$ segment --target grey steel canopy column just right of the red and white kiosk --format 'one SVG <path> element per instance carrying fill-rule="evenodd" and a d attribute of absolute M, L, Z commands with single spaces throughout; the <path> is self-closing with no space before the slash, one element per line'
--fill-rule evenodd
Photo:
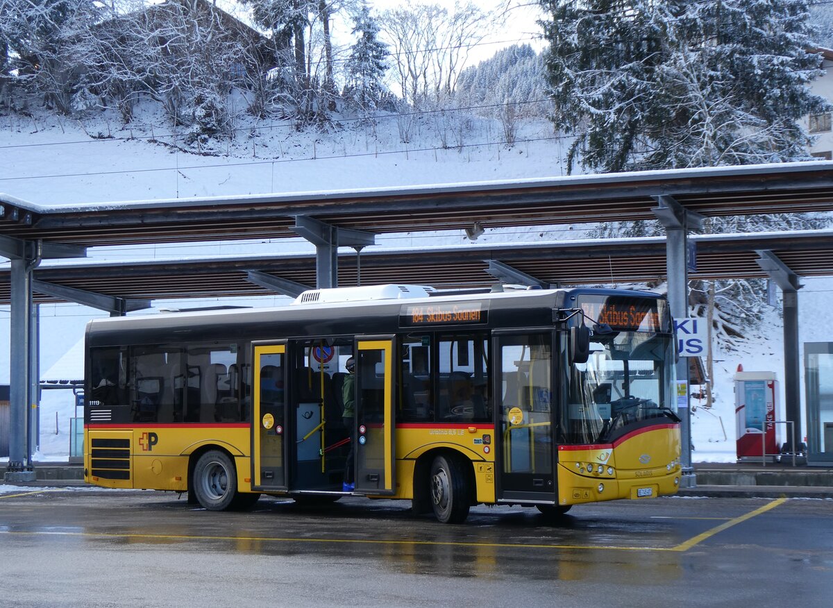
<path fill-rule="evenodd" d="M 798 338 L 798 290 L 803 287 L 798 275 L 781 262 L 773 252 L 756 251 L 760 266 L 772 281 L 781 287 L 784 296 L 782 311 L 784 314 L 784 414 L 791 421 L 796 431 L 796 443 L 801 443 L 801 359 L 799 358 Z M 789 431 L 789 429 L 787 429 Z M 788 435 L 789 439 L 789 435 Z M 797 451 L 791 446 L 791 451 Z"/>

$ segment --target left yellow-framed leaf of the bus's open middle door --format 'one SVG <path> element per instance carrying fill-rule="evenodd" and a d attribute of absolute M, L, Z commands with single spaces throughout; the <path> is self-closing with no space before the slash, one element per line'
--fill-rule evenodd
<path fill-rule="evenodd" d="M 255 489 L 287 489 L 287 345 L 254 347 L 252 480 Z"/>

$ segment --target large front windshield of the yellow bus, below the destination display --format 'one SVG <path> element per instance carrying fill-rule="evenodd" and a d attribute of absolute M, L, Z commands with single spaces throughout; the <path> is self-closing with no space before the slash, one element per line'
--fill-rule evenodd
<path fill-rule="evenodd" d="M 586 363 L 568 366 L 562 441 L 611 443 L 676 416 L 674 341 L 668 334 L 611 331 L 591 338 Z"/>

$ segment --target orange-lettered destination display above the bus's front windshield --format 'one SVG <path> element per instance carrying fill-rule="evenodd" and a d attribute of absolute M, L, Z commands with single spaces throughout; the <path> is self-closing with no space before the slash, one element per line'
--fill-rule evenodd
<path fill-rule="evenodd" d="M 579 297 L 581 311 L 616 331 L 669 331 L 666 302 L 653 299 Z"/>

